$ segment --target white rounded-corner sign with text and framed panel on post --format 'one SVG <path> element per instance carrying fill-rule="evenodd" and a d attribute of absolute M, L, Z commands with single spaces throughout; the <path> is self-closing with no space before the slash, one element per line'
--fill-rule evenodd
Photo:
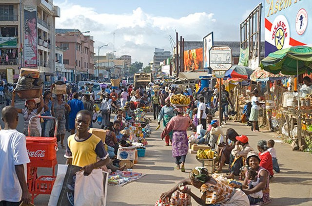
<path fill-rule="evenodd" d="M 213 46 L 209 53 L 212 70 L 227 71 L 232 67 L 232 49 L 229 46 Z"/>

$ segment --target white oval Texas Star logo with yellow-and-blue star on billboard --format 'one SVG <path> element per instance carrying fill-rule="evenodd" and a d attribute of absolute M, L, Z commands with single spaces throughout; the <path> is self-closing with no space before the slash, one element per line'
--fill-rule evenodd
<path fill-rule="evenodd" d="M 288 21 L 283 15 L 279 15 L 273 21 L 272 25 L 272 40 L 276 49 L 281 50 L 289 46 L 289 25 Z"/>

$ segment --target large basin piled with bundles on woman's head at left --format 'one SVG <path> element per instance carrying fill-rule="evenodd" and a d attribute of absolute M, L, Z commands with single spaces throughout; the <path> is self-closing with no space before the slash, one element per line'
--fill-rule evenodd
<path fill-rule="evenodd" d="M 35 99 L 40 97 L 40 89 L 43 88 L 43 80 L 39 76 L 39 70 L 20 70 L 20 76 L 15 91 L 21 99 Z"/>

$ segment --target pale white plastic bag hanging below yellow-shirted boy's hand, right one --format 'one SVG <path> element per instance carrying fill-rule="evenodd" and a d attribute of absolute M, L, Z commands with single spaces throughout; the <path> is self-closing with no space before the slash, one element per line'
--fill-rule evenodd
<path fill-rule="evenodd" d="M 88 176 L 76 174 L 75 206 L 106 206 L 108 173 L 93 169 Z"/>

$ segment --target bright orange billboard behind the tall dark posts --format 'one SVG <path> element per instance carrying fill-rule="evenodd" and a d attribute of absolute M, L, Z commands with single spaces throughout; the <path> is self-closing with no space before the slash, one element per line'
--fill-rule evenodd
<path fill-rule="evenodd" d="M 184 51 L 184 71 L 202 70 L 203 48 Z"/>

